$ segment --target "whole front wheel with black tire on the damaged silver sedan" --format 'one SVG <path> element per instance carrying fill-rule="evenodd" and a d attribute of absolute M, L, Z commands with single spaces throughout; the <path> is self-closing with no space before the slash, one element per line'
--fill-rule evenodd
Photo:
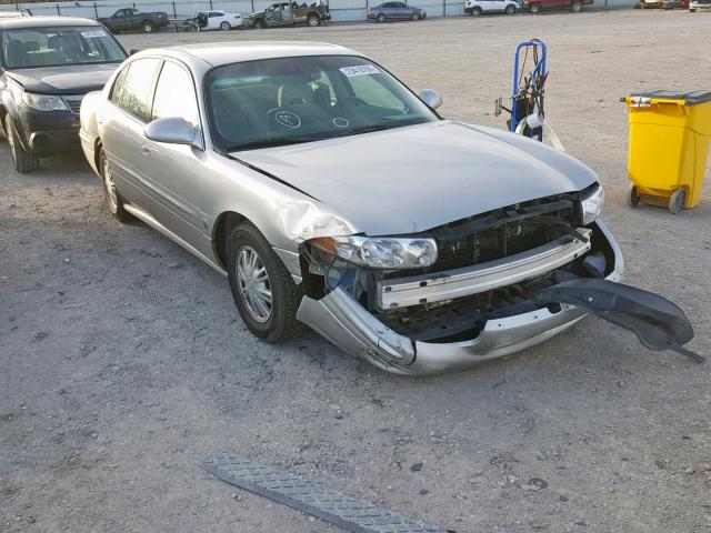
<path fill-rule="evenodd" d="M 228 276 L 247 329 L 267 342 L 300 336 L 297 320 L 303 293 L 264 237 L 250 223 L 238 224 L 228 241 Z"/>

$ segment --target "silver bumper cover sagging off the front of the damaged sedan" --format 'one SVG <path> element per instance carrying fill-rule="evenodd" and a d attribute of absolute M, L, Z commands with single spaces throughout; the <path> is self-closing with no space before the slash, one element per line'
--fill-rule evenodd
<path fill-rule="evenodd" d="M 607 276 L 621 281 L 624 262 L 614 238 L 602 221 L 597 222 L 614 252 L 614 266 Z M 391 330 L 344 290 L 337 288 L 321 300 L 304 296 L 298 319 L 346 352 L 362 356 L 388 372 L 435 374 L 465 369 L 539 344 L 571 328 L 585 311 L 563 304 L 553 313 L 547 308 L 490 320 L 483 331 L 464 342 L 412 342 Z"/>

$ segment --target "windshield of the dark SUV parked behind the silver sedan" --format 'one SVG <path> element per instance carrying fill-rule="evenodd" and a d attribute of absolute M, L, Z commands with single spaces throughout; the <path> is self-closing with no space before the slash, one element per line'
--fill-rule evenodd
<path fill-rule="evenodd" d="M 126 52 L 113 36 L 96 26 L 17 28 L 2 32 L 6 69 L 119 63 L 124 59 Z"/>

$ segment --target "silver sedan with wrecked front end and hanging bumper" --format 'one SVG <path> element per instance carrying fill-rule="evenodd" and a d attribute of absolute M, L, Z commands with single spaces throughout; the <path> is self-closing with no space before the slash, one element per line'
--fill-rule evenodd
<path fill-rule="evenodd" d="M 429 374 L 594 312 L 695 356 L 675 305 L 617 283 L 594 172 L 440 104 L 341 47 L 189 46 L 127 60 L 84 99 L 81 140 L 111 212 L 226 272 L 269 342 L 309 326 Z"/>

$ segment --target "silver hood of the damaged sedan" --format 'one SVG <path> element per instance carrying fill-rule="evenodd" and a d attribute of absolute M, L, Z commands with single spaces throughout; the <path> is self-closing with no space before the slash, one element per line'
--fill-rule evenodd
<path fill-rule="evenodd" d="M 538 141 L 447 120 L 230 155 L 369 235 L 424 231 L 598 179 Z"/>

